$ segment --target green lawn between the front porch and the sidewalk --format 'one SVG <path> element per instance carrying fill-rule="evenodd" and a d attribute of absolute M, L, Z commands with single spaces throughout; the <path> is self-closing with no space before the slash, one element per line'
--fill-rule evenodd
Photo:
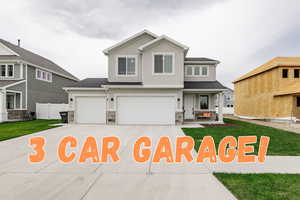
<path fill-rule="evenodd" d="M 270 144 L 268 155 L 300 156 L 300 134 L 288 132 L 271 127 L 256 125 L 238 120 L 224 119 L 225 123 L 236 126 L 207 127 L 207 128 L 183 128 L 186 135 L 195 140 L 195 149 L 198 150 L 203 136 L 213 136 L 216 146 L 225 136 L 269 136 Z M 259 141 L 255 145 L 257 153 Z"/>

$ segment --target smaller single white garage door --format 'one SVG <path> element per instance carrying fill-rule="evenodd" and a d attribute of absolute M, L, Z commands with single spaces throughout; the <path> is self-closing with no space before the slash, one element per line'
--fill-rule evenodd
<path fill-rule="evenodd" d="M 106 123 L 105 97 L 76 97 L 75 117 L 80 124 Z"/>

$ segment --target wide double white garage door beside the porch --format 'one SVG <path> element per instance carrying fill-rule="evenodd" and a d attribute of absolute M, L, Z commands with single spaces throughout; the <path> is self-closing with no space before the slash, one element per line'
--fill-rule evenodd
<path fill-rule="evenodd" d="M 161 96 L 118 97 L 118 124 L 175 124 L 175 98 Z"/>

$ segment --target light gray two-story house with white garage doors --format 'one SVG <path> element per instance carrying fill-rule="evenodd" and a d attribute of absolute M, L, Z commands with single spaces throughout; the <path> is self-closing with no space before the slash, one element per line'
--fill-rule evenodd
<path fill-rule="evenodd" d="M 226 88 L 216 80 L 219 61 L 188 58 L 189 48 L 147 30 L 103 52 L 108 78 L 85 79 L 65 88 L 75 123 L 223 123 L 216 104 Z M 217 96 L 220 101 L 216 102 Z"/>

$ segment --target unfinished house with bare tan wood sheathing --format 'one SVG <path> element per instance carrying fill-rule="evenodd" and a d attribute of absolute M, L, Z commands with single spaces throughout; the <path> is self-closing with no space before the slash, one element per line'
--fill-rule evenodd
<path fill-rule="evenodd" d="M 233 83 L 235 115 L 300 119 L 300 57 L 276 57 Z"/>

